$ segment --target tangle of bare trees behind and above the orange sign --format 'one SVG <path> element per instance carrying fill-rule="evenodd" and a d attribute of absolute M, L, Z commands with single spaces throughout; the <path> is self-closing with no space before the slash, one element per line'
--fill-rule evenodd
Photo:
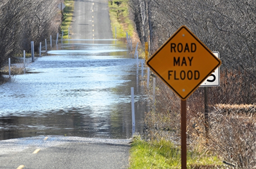
<path fill-rule="evenodd" d="M 151 54 L 180 26 L 186 25 L 211 51 L 220 53 L 221 73 L 239 70 L 245 88 L 256 84 L 254 0 L 130 0 L 130 4 L 140 38 L 150 42 Z M 142 22 L 143 17 L 147 22 Z M 247 95 L 241 97 L 246 99 Z"/>

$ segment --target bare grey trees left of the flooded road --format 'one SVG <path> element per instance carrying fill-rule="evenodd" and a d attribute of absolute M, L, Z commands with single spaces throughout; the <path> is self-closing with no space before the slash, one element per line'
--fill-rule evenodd
<path fill-rule="evenodd" d="M 59 31 L 61 0 L 1 0 L 0 1 L 0 69 L 19 51 L 35 49 L 40 41 Z"/>

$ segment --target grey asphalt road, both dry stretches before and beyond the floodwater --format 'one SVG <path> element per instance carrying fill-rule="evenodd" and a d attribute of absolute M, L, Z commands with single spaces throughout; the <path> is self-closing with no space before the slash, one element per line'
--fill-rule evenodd
<path fill-rule="evenodd" d="M 76 0 L 72 39 L 113 39 L 108 0 Z M 128 168 L 130 139 L 40 136 L 0 141 L 0 169 Z"/>

